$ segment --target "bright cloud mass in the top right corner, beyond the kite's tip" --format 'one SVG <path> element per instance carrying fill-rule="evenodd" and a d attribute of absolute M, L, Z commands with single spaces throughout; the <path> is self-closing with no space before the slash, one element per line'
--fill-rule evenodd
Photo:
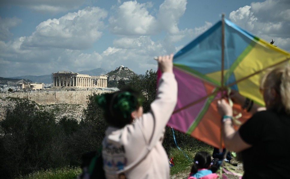
<path fill-rule="evenodd" d="M 229 15 L 229 19 L 254 35 L 290 51 L 290 1 L 253 2 Z"/>

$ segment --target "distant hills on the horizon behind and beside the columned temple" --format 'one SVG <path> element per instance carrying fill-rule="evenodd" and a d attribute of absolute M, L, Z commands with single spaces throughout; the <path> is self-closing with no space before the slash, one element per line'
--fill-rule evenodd
<path fill-rule="evenodd" d="M 90 75 L 90 76 L 108 75 L 108 80 L 119 80 L 120 78 L 127 79 L 129 76 L 136 74 L 129 68 L 123 67 L 123 66 L 117 67 L 115 70 L 112 70 L 111 72 L 103 68 L 97 68 L 94 70 L 85 70 L 85 71 L 80 71 L 77 73 Z M 114 75 L 114 77 L 110 78 L 111 75 Z M 33 81 L 34 83 L 45 83 L 45 84 L 49 84 L 52 81 L 51 75 L 41 75 L 41 76 L 27 75 L 27 76 L 16 76 L 16 77 L 9 77 L 9 78 L 26 79 L 26 80 Z"/>

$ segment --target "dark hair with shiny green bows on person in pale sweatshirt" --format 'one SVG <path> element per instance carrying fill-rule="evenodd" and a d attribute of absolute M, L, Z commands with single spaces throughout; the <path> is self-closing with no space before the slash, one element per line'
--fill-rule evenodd
<path fill-rule="evenodd" d="M 95 102 L 104 111 L 109 126 L 122 128 L 132 122 L 131 112 L 142 106 L 144 97 L 132 87 L 124 87 L 114 93 L 105 93 L 95 98 Z"/>

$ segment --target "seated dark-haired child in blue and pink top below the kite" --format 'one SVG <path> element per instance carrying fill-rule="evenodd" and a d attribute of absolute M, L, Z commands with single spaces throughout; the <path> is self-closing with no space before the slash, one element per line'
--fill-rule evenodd
<path fill-rule="evenodd" d="M 213 179 L 219 178 L 211 170 L 211 157 L 207 152 L 198 152 L 194 157 L 194 163 L 187 179 Z"/>

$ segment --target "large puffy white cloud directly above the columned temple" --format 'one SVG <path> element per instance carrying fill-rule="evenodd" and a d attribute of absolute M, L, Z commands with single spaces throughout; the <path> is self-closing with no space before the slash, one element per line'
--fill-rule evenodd
<path fill-rule="evenodd" d="M 87 49 L 102 36 L 103 19 L 106 16 L 106 10 L 86 7 L 59 19 L 48 19 L 36 27 L 35 32 L 26 38 L 23 46 Z"/>

